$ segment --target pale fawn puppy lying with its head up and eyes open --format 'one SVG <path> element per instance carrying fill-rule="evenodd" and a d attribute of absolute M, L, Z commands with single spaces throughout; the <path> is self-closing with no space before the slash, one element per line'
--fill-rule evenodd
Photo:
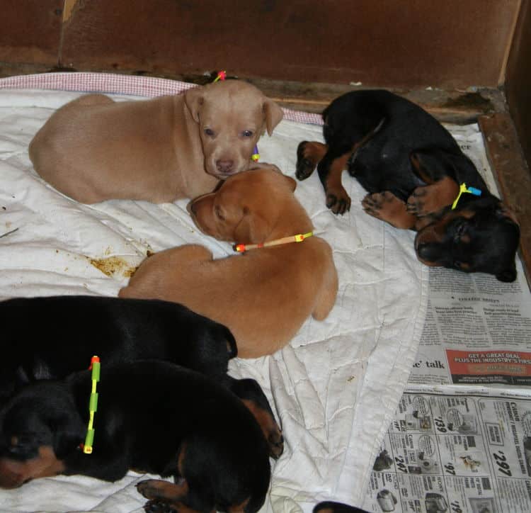
<path fill-rule="evenodd" d="M 163 203 L 247 169 L 258 138 L 281 119 L 274 101 L 239 80 L 146 101 L 89 94 L 59 108 L 29 153 L 43 179 L 82 203 Z"/>

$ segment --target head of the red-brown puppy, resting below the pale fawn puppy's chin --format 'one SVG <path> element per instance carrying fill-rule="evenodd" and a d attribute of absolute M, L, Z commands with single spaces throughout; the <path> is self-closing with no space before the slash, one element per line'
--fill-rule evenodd
<path fill-rule="evenodd" d="M 232 176 L 217 191 L 188 204 L 195 225 L 211 237 L 228 242 L 263 242 L 275 225 L 280 205 L 295 201 L 296 182 L 270 164 Z"/>

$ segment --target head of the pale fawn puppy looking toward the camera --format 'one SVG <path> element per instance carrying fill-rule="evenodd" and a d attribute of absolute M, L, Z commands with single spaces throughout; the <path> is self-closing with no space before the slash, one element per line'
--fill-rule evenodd
<path fill-rule="evenodd" d="M 205 170 L 219 179 L 248 169 L 258 139 L 273 133 L 282 109 L 255 86 L 219 81 L 185 93 L 185 103 L 199 125 Z"/>

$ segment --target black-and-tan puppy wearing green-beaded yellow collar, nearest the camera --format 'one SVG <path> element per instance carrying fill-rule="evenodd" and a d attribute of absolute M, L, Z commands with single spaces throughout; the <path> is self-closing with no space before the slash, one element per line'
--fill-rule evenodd
<path fill-rule="evenodd" d="M 269 448 L 256 419 L 216 380 L 173 363 L 105 365 L 86 438 L 91 371 L 43 380 L 0 411 L 0 487 L 65 474 L 107 481 L 127 470 L 173 476 L 137 485 L 148 512 L 256 512 L 270 481 Z"/>

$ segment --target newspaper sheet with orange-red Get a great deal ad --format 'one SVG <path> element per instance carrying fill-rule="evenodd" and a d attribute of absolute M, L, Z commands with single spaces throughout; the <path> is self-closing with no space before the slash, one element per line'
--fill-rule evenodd
<path fill-rule="evenodd" d="M 430 269 L 409 385 L 531 385 L 531 296 L 518 268 L 514 283 Z"/>

